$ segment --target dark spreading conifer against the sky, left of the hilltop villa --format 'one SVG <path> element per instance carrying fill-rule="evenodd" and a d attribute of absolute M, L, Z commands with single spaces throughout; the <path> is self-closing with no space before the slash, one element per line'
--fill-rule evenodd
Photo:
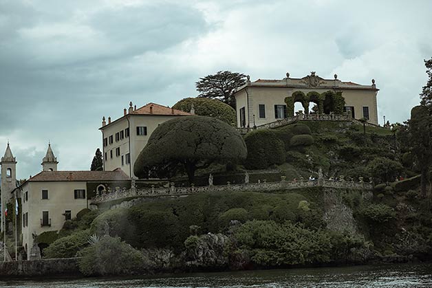
<path fill-rule="evenodd" d="M 217 74 L 199 78 L 195 84 L 199 92 L 198 97 L 219 99 L 235 109 L 234 92 L 237 87 L 246 84 L 246 75 L 219 71 Z"/>

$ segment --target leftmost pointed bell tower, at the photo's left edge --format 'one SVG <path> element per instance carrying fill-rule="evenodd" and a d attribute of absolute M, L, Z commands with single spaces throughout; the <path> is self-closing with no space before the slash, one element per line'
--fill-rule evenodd
<path fill-rule="evenodd" d="M 12 155 L 10 151 L 10 146 L 6 147 L 6 152 L 3 157 L 1 157 L 1 200 L 3 205 L 8 203 L 12 195 L 10 192 L 17 188 L 17 159 Z M 4 207 L 2 208 L 4 211 Z M 3 213 L 2 211 L 2 213 Z"/>

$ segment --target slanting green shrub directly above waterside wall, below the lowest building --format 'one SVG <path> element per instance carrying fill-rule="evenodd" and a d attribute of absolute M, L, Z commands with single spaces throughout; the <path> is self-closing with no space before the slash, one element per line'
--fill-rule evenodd
<path fill-rule="evenodd" d="M 71 258 L 76 252 L 89 245 L 87 240 L 91 235 L 90 230 L 75 232 L 69 236 L 57 239 L 43 250 L 45 258 Z"/>

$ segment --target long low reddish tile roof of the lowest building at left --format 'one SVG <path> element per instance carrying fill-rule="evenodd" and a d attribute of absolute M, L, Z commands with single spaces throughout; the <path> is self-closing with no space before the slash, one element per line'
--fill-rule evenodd
<path fill-rule="evenodd" d="M 114 171 L 42 171 L 28 181 L 125 181 L 130 180 L 120 168 Z"/>

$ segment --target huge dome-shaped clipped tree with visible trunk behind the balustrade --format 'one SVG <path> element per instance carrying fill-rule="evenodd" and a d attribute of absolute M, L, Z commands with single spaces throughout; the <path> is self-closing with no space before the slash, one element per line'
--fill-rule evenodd
<path fill-rule="evenodd" d="M 233 126 L 215 118 L 185 116 L 166 121 L 153 131 L 133 172 L 146 178 L 151 166 L 182 164 L 192 184 L 198 168 L 215 160 L 237 161 L 246 155 L 246 144 Z"/>

